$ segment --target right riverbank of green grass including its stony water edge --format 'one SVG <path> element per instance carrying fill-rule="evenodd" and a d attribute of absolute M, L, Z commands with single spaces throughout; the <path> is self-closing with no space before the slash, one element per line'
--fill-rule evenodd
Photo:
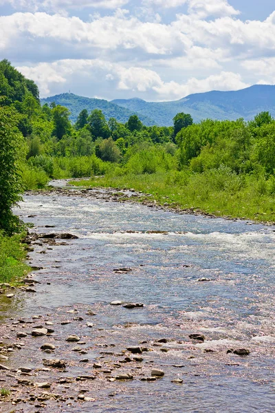
<path fill-rule="evenodd" d="M 256 182 L 250 182 L 243 189 L 237 189 L 236 186 L 234 190 L 234 182 L 231 182 L 231 187 L 230 182 L 227 187 L 223 187 L 225 182 L 223 184 L 220 182 L 221 188 L 218 189 L 217 182 L 214 186 L 212 180 L 206 177 L 202 179 L 201 176 L 199 179 L 194 176 L 193 179 L 186 181 L 186 185 L 181 179 L 178 181 L 177 177 L 173 178 L 170 173 L 163 173 L 101 176 L 91 180 L 72 180 L 70 184 L 91 189 L 97 187 L 109 187 L 117 191 L 133 189 L 144 195 L 131 197 L 131 202 L 152 204 L 177 213 L 197 213 L 212 218 L 223 217 L 275 224 L 274 196 L 261 193 L 256 187 Z M 235 184 L 237 185 L 237 182 Z M 150 193 L 150 196 L 145 195 L 146 193 Z"/>

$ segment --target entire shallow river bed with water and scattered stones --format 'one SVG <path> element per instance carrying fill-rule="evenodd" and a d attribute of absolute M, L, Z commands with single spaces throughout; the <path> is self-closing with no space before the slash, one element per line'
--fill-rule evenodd
<path fill-rule="evenodd" d="M 34 271 L 2 286 L 1 411 L 272 411 L 272 227 L 142 196 L 26 194 Z"/>

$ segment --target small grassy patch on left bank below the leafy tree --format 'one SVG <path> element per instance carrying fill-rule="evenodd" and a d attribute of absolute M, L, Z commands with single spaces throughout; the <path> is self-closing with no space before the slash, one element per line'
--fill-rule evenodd
<path fill-rule="evenodd" d="M 0 284 L 17 285 L 30 270 L 25 263 L 27 251 L 23 235 L 6 237 L 0 233 Z"/>

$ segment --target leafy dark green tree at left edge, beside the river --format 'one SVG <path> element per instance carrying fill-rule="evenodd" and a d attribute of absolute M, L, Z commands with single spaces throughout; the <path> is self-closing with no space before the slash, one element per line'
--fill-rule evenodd
<path fill-rule="evenodd" d="M 17 125 L 15 109 L 0 106 L 0 229 L 12 235 L 19 229 L 19 218 L 12 207 L 21 200 L 23 191 L 19 162 L 24 155 L 23 136 Z"/>

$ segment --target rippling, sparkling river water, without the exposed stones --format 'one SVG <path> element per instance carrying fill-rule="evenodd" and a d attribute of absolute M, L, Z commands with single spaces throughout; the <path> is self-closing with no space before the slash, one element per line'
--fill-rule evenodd
<path fill-rule="evenodd" d="M 89 384 L 94 403 L 43 411 L 274 412 L 274 226 L 178 215 L 77 193 L 26 196 L 19 214 L 33 222 L 36 233 L 68 232 L 79 238 L 51 249 L 35 246 L 32 265 L 43 267 L 36 273 L 37 293 L 20 293 L 12 305 L 3 303 L 2 319 L 47 314 L 54 321 L 68 318 L 67 310 L 74 308 L 83 324 L 58 326 L 55 339 L 72 333 L 85 337 L 92 363 L 110 343 L 118 352 L 147 341 L 153 350 L 142 354 L 140 370 L 133 367 L 133 381 Z M 132 271 L 113 271 L 122 267 Z M 208 281 L 199 282 L 201 277 Z M 110 306 L 115 299 L 142 302 L 144 308 Z M 91 308 L 96 316 L 88 319 L 85 312 Z M 192 341 L 191 333 L 206 339 Z M 164 351 L 154 346 L 162 338 L 168 339 Z M 227 354 L 229 348 L 246 348 L 250 355 Z M 32 351 L 14 354 L 11 366 L 18 366 L 19 357 L 41 363 L 41 354 Z M 58 357 L 68 358 L 65 351 L 60 346 Z M 70 357 L 67 375 L 93 370 L 92 364 L 80 366 L 79 356 Z M 164 378 L 140 381 L 152 367 L 164 370 Z M 171 383 L 177 378 L 184 383 Z"/>

